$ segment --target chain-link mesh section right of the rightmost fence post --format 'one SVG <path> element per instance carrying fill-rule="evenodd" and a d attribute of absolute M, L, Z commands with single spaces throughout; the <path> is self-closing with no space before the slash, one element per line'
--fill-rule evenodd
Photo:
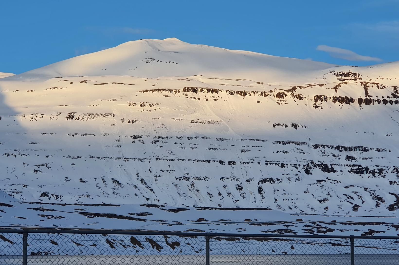
<path fill-rule="evenodd" d="M 355 239 L 355 264 L 399 264 L 399 239 Z"/>

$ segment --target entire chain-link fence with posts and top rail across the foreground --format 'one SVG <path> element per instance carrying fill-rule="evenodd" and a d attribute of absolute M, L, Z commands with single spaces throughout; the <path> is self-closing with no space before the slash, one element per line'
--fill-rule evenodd
<path fill-rule="evenodd" d="M 1 230 L 0 265 L 393 265 L 399 237 Z"/>

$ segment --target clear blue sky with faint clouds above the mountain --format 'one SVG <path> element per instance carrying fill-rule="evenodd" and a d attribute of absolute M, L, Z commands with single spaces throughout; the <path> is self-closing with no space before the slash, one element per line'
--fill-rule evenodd
<path fill-rule="evenodd" d="M 0 72 L 22 73 L 136 39 L 340 65 L 399 60 L 399 0 L 3 1 Z"/>

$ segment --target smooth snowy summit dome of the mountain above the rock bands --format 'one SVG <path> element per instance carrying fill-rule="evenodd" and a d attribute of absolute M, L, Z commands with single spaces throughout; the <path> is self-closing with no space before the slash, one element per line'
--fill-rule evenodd
<path fill-rule="evenodd" d="M 157 64 L 145 65 L 152 60 Z M 300 67 L 295 65 L 300 65 Z M 247 69 L 241 73 L 242 79 L 281 82 L 285 80 L 282 77 L 286 71 L 300 77 L 305 74 L 314 75 L 314 71 L 332 66 L 334 65 L 249 51 L 192 45 L 169 38 L 129 41 L 103 51 L 80 55 L 34 69 L 19 76 L 40 75 L 51 78 L 77 75 L 132 75 L 158 78 L 205 75 L 231 78 L 237 75 L 237 72 L 242 72 L 242 69 Z M 276 75 L 280 77 L 280 80 L 275 78 Z M 274 80 L 268 80 L 271 78 Z"/>

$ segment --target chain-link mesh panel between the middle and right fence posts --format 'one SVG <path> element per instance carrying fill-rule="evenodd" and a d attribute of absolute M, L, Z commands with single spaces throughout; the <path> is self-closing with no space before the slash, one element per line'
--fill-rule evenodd
<path fill-rule="evenodd" d="M 349 239 L 211 238 L 213 265 L 350 265 Z"/>

